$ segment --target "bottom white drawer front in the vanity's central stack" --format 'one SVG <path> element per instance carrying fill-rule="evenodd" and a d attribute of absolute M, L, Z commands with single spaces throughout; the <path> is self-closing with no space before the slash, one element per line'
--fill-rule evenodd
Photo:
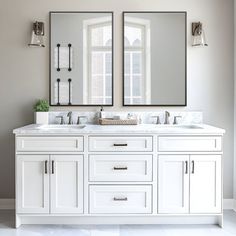
<path fill-rule="evenodd" d="M 91 214 L 151 214 L 151 185 L 90 185 Z"/>

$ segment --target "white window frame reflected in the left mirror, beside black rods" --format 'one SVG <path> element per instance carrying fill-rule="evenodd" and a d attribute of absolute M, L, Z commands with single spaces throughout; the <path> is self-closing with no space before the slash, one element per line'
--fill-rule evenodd
<path fill-rule="evenodd" d="M 92 79 L 92 61 L 91 61 L 91 53 L 92 51 L 110 51 L 112 54 L 112 45 L 111 46 L 91 46 L 91 29 L 96 28 L 98 26 L 111 25 L 112 20 L 111 17 L 98 17 L 93 19 L 84 20 L 83 22 L 83 104 L 93 104 L 92 99 L 92 91 L 91 91 L 91 79 Z M 104 55 L 105 56 L 105 55 Z M 111 56 L 112 57 L 112 56 Z M 103 65 L 105 67 L 105 65 Z M 105 71 L 105 68 L 103 68 Z M 104 74 L 104 83 L 103 83 L 103 92 L 105 93 L 105 77 L 107 74 Z M 112 72 L 111 72 L 112 76 Z M 103 102 L 102 104 L 106 104 L 106 99 L 111 98 L 111 96 L 102 96 Z"/>

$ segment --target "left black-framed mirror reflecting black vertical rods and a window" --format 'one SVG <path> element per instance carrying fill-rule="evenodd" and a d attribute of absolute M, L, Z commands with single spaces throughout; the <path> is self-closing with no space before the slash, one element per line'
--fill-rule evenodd
<path fill-rule="evenodd" d="M 50 105 L 113 105 L 112 12 L 50 12 Z"/>

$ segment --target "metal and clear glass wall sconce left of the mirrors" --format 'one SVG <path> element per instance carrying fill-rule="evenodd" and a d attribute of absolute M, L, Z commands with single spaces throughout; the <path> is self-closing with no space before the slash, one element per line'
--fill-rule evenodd
<path fill-rule="evenodd" d="M 33 23 L 31 42 L 28 44 L 28 46 L 45 47 L 44 42 L 43 42 L 43 36 L 44 36 L 44 23 L 35 21 Z"/>

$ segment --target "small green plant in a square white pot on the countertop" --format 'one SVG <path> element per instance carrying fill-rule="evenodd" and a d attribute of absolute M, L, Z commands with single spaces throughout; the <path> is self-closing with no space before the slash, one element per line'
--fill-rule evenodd
<path fill-rule="evenodd" d="M 35 123 L 48 124 L 49 104 L 47 100 L 38 100 L 34 105 Z"/>

